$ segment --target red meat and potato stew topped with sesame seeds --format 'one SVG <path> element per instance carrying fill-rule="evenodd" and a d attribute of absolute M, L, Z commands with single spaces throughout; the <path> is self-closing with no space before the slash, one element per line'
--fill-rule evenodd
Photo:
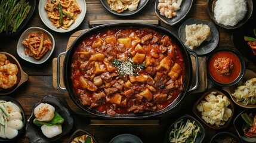
<path fill-rule="evenodd" d="M 162 110 L 183 90 L 179 47 L 148 28 L 90 35 L 76 48 L 71 66 L 73 89 L 82 104 L 111 116 Z"/>

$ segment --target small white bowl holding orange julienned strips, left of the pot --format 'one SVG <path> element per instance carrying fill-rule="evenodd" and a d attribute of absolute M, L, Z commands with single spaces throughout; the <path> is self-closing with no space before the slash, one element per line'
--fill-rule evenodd
<path fill-rule="evenodd" d="M 24 50 L 26 49 L 26 46 L 24 46 L 22 44 L 22 42 L 27 38 L 27 36 L 31 33 L 31 32 L 36 32 L 36 31 L 40 31 L 45 33 L 48 38 L 50 39 L 52 45 L 51 45 L 51 51 L 47 51 L 45 53 L 45 55 L 43 55 L 42 58 L 40 58 L 39 60 L 36 60 L 34 57 L 29 56 L 29 55 L 25 55 Z M 51 35 L 51 33 L 49 33 L 47 30 L 42 29 L 40 27 L 30 27 L 29 29 L 25 30 L 22 35 L 20 36 L 20 39 L 18 39 L 18 43 L 17 43 L 17 53 L 18 55 L 23 58 L 23 60 L 29 61 L 30 63 L 33 64 L 42 64 L 45 61 L 48 60 L 48 58 L 51 57 L 51 54 L 53 54 L 55 48 L 55 41 L 53 38 L 53 35 Z"/>

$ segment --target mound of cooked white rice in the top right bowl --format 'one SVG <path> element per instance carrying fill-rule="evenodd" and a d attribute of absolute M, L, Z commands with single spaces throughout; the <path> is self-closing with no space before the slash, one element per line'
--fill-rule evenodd
<path fill-rule="evenodd" d="M 245 17 L 246 13 L 245 0 L 218 0 L 215 2 L 215 20 L 224 26 L 235 26 Z"/>

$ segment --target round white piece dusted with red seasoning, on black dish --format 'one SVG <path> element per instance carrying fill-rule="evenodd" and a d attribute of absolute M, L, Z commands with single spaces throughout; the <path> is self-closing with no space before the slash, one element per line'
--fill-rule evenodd
<path fill-rule="evenodd" d="M 41 103 L 38 106 L 36 106 L 34 114 L 37 120 L 48 122 L 51 119 L 53 119 L 54 111 L 55 108 L 52 105 L 47 103 Z"/>

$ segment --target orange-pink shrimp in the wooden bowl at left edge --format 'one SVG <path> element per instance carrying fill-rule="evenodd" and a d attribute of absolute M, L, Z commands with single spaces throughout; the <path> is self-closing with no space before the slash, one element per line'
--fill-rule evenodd
<path fill-rule="evenodd" d="M 0 54 L 0 91 L 16 85 L 17 73 L 17 65 L 10 63 L 5 54 Z"/>

